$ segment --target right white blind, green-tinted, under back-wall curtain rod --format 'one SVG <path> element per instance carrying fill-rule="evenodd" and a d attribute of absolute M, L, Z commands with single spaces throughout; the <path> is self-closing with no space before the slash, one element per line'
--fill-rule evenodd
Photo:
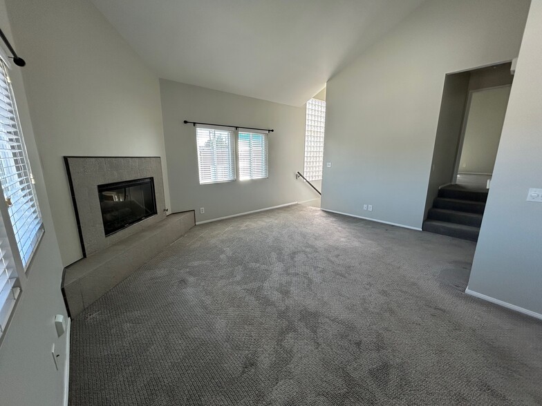
<path fill-rule="evenodd" d="M 239 132 L 239 180 L 268 177 L 267 134 Z"/>

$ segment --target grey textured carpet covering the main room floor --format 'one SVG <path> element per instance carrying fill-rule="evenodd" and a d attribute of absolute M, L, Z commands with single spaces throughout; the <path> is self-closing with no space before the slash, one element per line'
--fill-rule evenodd
<path fill-rule="evenodd" d="M 73 320 L 71 405 L 540 405 L 475 244 L 307 206 L 187 235 Z"/>

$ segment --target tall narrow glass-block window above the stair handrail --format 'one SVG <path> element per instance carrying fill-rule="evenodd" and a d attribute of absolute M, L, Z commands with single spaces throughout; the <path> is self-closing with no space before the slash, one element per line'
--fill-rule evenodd
<path fill-rule="evenodd" d="M 305 125 L 305 177 L 308 180 L 322 178 L 324 163 L 324 128 L 326 126 L 326 102 L 318 99 L 307 101 Z"/>

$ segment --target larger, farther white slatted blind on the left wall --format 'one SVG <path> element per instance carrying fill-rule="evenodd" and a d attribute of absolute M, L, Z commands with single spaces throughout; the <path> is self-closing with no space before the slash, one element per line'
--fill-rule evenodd
<path fill-rule="evenodd" d="M 1 61 L 0 66 L 0 184 L 26 269 L 43 227 L 8 69 Z"/>

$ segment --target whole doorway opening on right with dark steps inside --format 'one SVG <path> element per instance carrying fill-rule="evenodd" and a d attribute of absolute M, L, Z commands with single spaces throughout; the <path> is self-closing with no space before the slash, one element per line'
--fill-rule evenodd
<path fill-rule="evenodd" d="M 424 231 L 478 240 L 508 97 L 510 62 L 446 76 Z"/>

